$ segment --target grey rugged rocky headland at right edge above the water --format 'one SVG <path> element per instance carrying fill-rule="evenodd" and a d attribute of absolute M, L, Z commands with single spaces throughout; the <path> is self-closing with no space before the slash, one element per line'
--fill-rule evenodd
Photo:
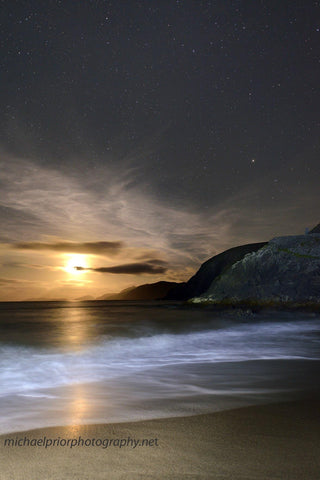
<path fill-rule="evenodd" d="M 320 304 L 320 234 L 270 240 L 234 263 L 192 301 Z"/>

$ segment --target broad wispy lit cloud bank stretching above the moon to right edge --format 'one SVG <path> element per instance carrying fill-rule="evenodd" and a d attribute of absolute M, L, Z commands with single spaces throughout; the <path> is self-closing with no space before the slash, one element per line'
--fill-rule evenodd
<path fill-rule="evenodd" d="M 79 164 L 85 160 L 79 158 Z M 0 239 L 15 244 L 21 254 L 22 246 L 30 253 L 32 245 L 35 253 L 39 251 L 35 247 L 44 251 L 49 246 L 53 251 L 68 248 L 101 255 L 105 249 L 104 254 L 118 253 L 123 264 L 148 263 L 148 257 L 155 255 L 166 259 L 171 271 L 185 271 L 196 270 L 201 262 L 232 246 L 295 233 L 299 223 L 302 231 L 318 223 L 312 192 L 303 196 L 296 189 L 270 206 L 259 195 L 259 187 L 252 185 L 214 202 L 208 198 L 207 205 L 198 208 L 189 198 L 172 204 L 156 198 L 152 186 L 148 189 L 139 175 L 134 168 L 117 170 L 114 164 L 85 174 L 81 168 L 58 171 L 3 153 Z M 97 239 L 110 242 L 103 246 Z"/>

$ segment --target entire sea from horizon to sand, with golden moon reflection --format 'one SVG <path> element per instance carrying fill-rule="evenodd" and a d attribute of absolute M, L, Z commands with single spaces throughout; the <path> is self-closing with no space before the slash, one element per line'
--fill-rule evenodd
<path fill-rule="evenodd" d="M 0 303 L 0 433 L 312 396 L 319 373 L 314 313 Z"/>

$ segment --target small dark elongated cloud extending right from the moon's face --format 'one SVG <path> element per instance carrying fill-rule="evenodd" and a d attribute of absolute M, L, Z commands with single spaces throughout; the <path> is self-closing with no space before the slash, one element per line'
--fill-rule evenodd
<path fill-rule="evenodd" d="M 165 273 L 167 271 L 166 262 L 162 260 L 150 260 L 144 263 L 127 263 L 124 265 L 114 265 L 113 267 L 97 267 L 97 268 L 85 268 L 74 267 L 76 270 L 90 270 L 92 272 L 99 273 L 116 273 L 126 275 L 142 275 L 142 274 L 157 274 Z"/>

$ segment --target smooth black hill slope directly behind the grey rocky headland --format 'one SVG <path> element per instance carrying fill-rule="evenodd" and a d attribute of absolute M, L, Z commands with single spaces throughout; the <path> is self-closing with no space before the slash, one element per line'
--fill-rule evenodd
<path fill-rule="evenodd" d="M 251 252 L 256 252 L 267 242 L 249 243 L 247 245 L 240 245 L 233 247 L 207 260 L 201 265 L 197 273 L 191 277 L 186 283 L 177 284 L 172 288 L 166 300 L 188 300 L 206 292 L 211 283 L 222 275 L 235 262 L 242 260 L 242 258 Z"/>

